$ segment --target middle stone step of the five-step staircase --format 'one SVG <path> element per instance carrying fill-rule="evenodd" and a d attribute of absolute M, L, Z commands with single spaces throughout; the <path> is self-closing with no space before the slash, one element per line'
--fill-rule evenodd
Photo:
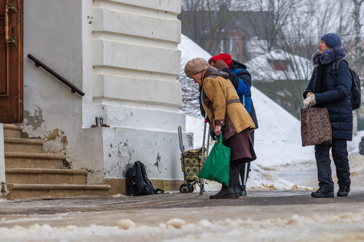
<path fill-rule="evenodd" d="M 6 168 L 61 169 L 64 154 L 4 152 Z"/>

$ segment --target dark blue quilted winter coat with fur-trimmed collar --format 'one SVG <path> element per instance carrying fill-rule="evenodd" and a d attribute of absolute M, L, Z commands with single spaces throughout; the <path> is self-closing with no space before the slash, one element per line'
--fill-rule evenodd
<path fill-rule="evenodd" d="M 318 54 L 318 51 L 314 52 L 312 55 L 313 64 L 327 65 L 326 81 L 328 91 L 315 93 L 317 77 L 315 73 L 312 73 L 311 80 L 303 93 L 303 97 L 306 98 L 308 92 L 315 93 L 316 106 L 319 108 L 326 107 L 329 112 L 332 138 L 351 141 L 353 137 L 353 110 L 349 97 L 352 85 L 349 67 L 345 61 L 340 62 L 337 84 L 335 84 L 335 79 L 331 73 L 333 62 L 343 59 L 345 56 L 347 56 L 347 53 L 342 46 L 326 50 L 321 55 Z"/>

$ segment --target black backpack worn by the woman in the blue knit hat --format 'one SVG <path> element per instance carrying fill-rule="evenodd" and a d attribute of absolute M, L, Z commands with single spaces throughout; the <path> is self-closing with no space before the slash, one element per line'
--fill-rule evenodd
<path fill-rule="evenodd" d="M 337 70 L 339 70 L 340 61 L 345 61 L 346 64 L 348 64 L 348 62 L 344 59 L 336 60 L 332 64 L 332 75 L 334 76 L 335 85 L 337 85 Z M 351 74 L 351 80 L 352 80 L 349 95 L 351 99 L 351 106 L 353 110 L 355 110 L 360 108 L 361 105 L 361 90 L 360 90 L 361 85 L 358 74 L 355 71 L 353 71 L 350 67 L 349 67 L 349 72 Z"/>

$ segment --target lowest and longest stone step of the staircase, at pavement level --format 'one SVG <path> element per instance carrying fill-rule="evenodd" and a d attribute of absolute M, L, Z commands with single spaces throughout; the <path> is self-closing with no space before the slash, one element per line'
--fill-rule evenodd
<path fill-rule="evenodd" d="M 35 197 L 76 197 L 107 196 L 110 185 L 74 185 L 74 184 L 19 184 L 7 183 L 8 199 Z"/>

